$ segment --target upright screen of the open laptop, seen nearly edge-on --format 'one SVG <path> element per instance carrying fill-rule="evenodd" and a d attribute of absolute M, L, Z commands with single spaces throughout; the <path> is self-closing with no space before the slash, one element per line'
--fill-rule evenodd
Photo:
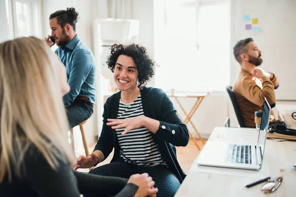
<path fill-rule="evenodd" d="M 259 152 L 261 155 L 261 159 L 264 153 L 264 145 L 265 145 L 268 125 L 269 125 L 269 116 L 270 116 L 270 105 L 268 104 L 266 98 L 264 98 L 262 118 L 260 123 L 260 131 L 258 136 L 258 145 L 259 145 Z"/>

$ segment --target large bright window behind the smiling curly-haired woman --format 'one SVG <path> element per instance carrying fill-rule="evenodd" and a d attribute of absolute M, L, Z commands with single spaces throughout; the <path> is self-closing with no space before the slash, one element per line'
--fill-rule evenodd
<path fill-rule="evenodd" d="M 164 10 L 155 86 L 178 92 L 224 90 L 230 81 L 229 2 L 165 0 Z"/>

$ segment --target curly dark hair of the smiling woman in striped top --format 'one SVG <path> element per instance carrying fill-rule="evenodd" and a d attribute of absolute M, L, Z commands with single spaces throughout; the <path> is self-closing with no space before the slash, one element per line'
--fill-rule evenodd
<path fill-rule="evenodd" d="M 124 46 L 122 44 L 113 44 L 111 46 L 111 55 L 108 56 L 107 65 L 114 72 L 115 64 L 120 55 L 126 55 L 133 58 L 137 70 L 138 70 L 138 87 L 141 88 L 145 86 L 150 78 L 154 75 L 154 65 L 157 66 L 155 62 L 149 59 L 147 50 L 143 46 L 138 44 L 130 44 Z"/>

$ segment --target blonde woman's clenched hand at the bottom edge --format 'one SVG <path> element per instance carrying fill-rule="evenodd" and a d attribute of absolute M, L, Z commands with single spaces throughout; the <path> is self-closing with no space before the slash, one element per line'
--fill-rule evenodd
<path fill-rule="evenodd" d="M 158 189 L 154 188 L 155 182 L 147 173 L 133 174 L 127 183 L 133 183 L 139 187 L 134 197 L 156 197 L 158 192 Z"/>

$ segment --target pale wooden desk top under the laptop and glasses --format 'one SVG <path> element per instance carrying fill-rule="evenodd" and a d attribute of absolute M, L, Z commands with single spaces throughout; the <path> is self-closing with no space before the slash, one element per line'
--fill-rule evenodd
<path fill-rule="evenodd" d="M 243 144 L 248 139 L 254 138 L 257 141 L 257 137 L 258 131 L 255 129 L 216 127 L 209 140 Z M 264 162 L 268 162 L 268 168 L 260 170 L 269 172 L 268 175 L 272 178 L 282 174 L 284 178 L 274 193 L 266 195 L 261 192 L 263 183 L 245 188 L 246 185 L 259 180 L 258 178 L 197 172 L 198 165 L 195 160 L 175 197 L 296 197 L 296 168 L 293 167 L 296 163 L 296 142 L 267 139 L 265 146 L 262 168 Z M 226 169 L 212 168 L 221 172 Z M 232 170 L 245 173 L 243 169 Z M 238 172 L 236 174 L 239 174 Z"/>

